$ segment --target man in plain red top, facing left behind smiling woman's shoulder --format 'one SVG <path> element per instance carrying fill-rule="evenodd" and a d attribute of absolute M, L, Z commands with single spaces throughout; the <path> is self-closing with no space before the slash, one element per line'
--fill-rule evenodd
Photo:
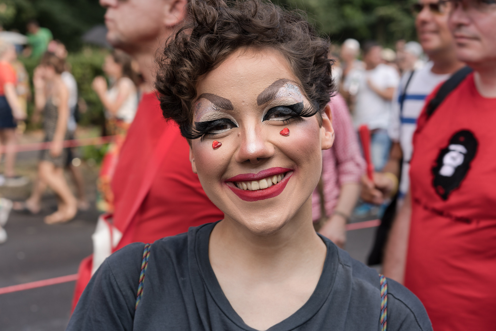
<path fill-rule="evenodd" d="M 132 242 L 152 243 L 186 232 L 190 226 L 224 218 L 191 171 L 189 145 L 176 124 L 163 119 L 154 93 L 157 50 L 184 18 L 186 2 L 100 0 L 107 8 L 107 40 L 136 60 L 145 83 L 112 179 L 114 214 L 105 217 L 112 228 L 107 241 L 112 243 L 100 242 L 95 247 L 109 246 L 115 251 Z M 122 236 L 117 243 L 116 236 Z M 96 237 L 97 233 L 94 240 Z M 92 258 L 81 263 L 73 308 L 95 266 Z"/>

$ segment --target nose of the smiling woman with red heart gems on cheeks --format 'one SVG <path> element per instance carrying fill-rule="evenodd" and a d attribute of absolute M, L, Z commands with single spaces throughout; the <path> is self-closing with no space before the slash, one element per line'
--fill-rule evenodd
<path fill-rule="evenodd" d="M 239 133 L 241 145 L 236 153 L 236 161 L 257 164 L 274 155 L 274 146 L 266 138 L 265 132 L 252 128 Z"/>

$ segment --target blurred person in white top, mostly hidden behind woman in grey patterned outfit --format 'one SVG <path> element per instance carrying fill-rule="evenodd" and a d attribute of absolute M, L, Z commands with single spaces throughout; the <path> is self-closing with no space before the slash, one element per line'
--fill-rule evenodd
<path fill-rule="evenodd" d="M 67 63 L 67 61 L 65 61 L 68 55 L 65 45 L 59 40 L 52 40 L 48 45 L 48 51 L 52 52 L 59 59 L 62 59 L 64 61 L 64 71 L 61 74 L 61 78 L 65 86 L 67 87 L 67 90 L 69 91 L 69 117 L 67 118 L 67 138 L 69 140 L 74 140 L 76 139 L 76 112 L 78 111 L 77 82 L 70 72 L 71 68 L 69 64 Z M 81 160 L 77 157 L 75 148 L 66 148 L 66 153 L 67 161 L 65 163 L 65 168 L 69 170 L 72 180 L 76 186 L 77 208 L 79 210 L 87 210 L 89 208 L 89 203 L 86 199 L 83 174 L 81 173 L 81 169 L 79 168 Z"/>

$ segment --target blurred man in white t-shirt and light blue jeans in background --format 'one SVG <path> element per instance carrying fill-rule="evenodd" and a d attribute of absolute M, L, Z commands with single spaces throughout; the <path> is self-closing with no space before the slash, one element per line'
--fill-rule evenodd
<path fill-rule="evenodd" d="M 371 130 L 372 163 L 380 171 L 385 165 L 391 141 L 387 134 L 391 117 L 391 101 L 398 86 L 399 75 L 395 68 L 384 65 L 382 47 L 374 41 L 364 45 L 365 69 L 350 71 L 345 79 L 344 89 L 350 91 L 352 78 L 358 78 L 357 103 L 353 120 L 355 128 L 366 124 Z"/>

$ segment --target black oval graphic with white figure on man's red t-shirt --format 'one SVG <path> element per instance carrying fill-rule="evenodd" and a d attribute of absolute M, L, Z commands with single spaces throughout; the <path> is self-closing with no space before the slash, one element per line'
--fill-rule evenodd
<path fill-rule="evenodd" d="M 478 144 L 472 132 L 461 130 L 453 134 L 446 148 L 440 150 L 432 171 L 434 190 L 441 199 L 447 200 L 465 179 Z"/>

